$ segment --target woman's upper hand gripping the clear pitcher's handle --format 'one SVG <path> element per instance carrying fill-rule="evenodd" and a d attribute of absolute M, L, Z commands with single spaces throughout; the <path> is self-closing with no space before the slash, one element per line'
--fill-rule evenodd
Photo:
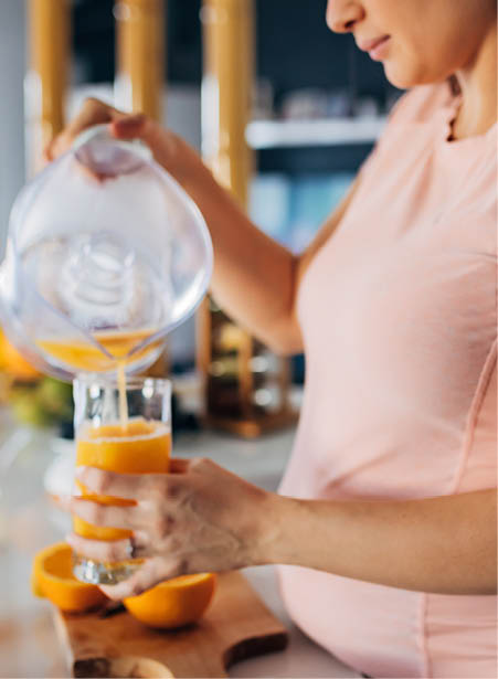
<path fill-rule="evenodd" d="M 180 183 L 189 163 L 200 165 L 197 152 L 180 137 L 144 114 L 126 114 L 99 99 L 87 98 L 80 113 L 45 148 L 47 162 L 67 151 L 76 137 L 94 125 L 108 124 L 116 139 L 141 139 L 152 151 L 156 161 Z"/>

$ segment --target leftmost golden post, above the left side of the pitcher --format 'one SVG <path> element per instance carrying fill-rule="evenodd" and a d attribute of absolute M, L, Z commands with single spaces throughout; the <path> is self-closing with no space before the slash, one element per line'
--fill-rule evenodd
<path fill-rule="evenodd" d="M 28 112 L 34 128 L 32 167 L 40 165 L 43 148 L 64 127 L 65 93 L 70 63 L 68 0 L 30 0 Z"/>

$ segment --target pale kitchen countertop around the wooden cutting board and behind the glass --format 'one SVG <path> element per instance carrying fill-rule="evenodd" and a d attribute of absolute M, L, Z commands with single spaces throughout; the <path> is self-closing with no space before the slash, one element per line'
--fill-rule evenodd
<path fill-rule="evenodd" d="M 287 461 L 293 431 L 246 442 L 203 432 L 174 439 L 178 457 L 205 455 L 258 486 L 275 490 Z M 31 595 L 33 554 L 63 539 L 67 518 L 47 499 L 43 477 L 54 459 L 71 457 L 71 444 L 50 434 L 13 427 L 0 411 L 0 677 L 67 677 L 51 605 Z M 231 677 L 359 677 L 306 637 L 287 616 L 273 566 L 244 574 L 289 630 L 285 651 L 234 665 Z"/>

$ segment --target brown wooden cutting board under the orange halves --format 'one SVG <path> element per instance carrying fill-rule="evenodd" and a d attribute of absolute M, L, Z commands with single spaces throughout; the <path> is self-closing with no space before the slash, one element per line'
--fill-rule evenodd
<path fill-rule="evenodd" d="M 233 664 L 282 650 L 287 630 L 239 572 L 219 575 L 210 607 L 195 625 L 150 629 L 127 611 L 55 613 L 74 677 L 226 677 Z"/>

